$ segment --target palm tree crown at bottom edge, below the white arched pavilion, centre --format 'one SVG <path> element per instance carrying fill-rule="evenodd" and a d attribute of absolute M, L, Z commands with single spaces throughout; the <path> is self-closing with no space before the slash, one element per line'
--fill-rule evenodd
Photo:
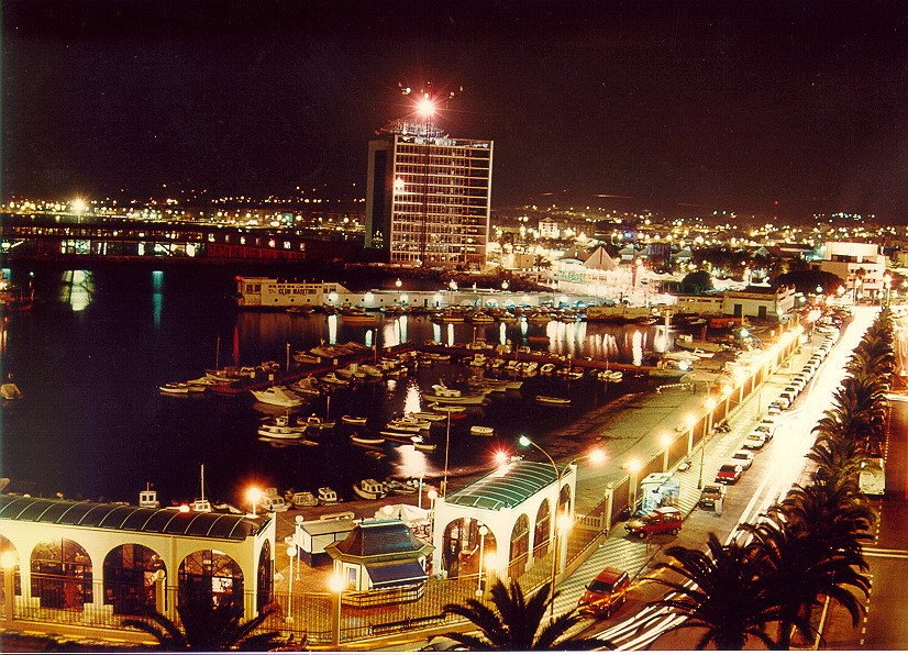
<path fill-rule="evenodd" d="M 444 606 L 446 614 L 470 621 L 481 633 L 480 636 L 458 632 L 450 632 L 445 636 L 470 651 L 591 651 L 612 647 L 605 640 L 566 637 L 583 621 L 576 611 L 558 614 L 545 623 L 549 607 L 557 598 L 557 592 L 550 596 L 549 585 L 525 598 L 520 582 L 512 581 L 506 587 L 501 580 L 496 580 L 490 593 L 490 604 L 467 598 L 463 604 Z"/>

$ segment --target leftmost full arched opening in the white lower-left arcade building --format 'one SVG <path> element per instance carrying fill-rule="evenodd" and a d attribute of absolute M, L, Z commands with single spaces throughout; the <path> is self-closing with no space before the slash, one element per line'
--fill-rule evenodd
<path fill-rule="evenodd" d="M 76 542 L 64 539 L 32 551 L 32 597 L 43 608 L 79 610 L 92 602 L 91 558 Z"/>

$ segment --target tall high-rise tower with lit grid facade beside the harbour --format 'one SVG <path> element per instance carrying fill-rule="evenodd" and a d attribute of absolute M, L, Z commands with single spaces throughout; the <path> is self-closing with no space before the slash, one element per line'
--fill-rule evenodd
<path fill-rule="evenodd" d="M 394 264 L 486 262 L 492 142 L 453 138 L 430 120 L 395 121 L 369 141 L 366 247 Z"/>

